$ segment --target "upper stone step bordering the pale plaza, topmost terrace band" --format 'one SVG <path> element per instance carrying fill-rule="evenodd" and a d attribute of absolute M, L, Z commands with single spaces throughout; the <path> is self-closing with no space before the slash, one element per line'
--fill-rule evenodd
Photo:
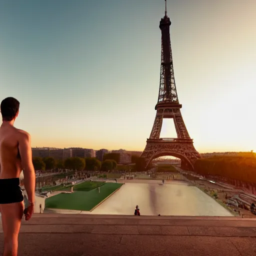
<path fill-rule="evenodd" d="M 46 215 L 46 214 L 45 214 Z M 147 216 L 115 217 L 92 214 L 60 214 L 60 216 L 33 216 L 29 221 L 22 220 L 24 225 L 169 225 L 169 226 L 229 226 L 229 227 L 256 227 L 254 218 L 148 218 Z"/>

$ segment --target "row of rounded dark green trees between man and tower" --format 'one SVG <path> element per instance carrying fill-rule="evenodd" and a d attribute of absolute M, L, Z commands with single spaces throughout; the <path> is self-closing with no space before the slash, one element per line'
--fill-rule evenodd
<path fill-rule="evenodd" d="M 55 168 L 70 170 L 113 170 L 116 168 L 116 161 L 106 159 L 99 161 L 95 157 L 69 157 L 64 161 L 56 160 L 53 157 L 33 157 L 33 166 L 35 170 L 51 170 Z"/>

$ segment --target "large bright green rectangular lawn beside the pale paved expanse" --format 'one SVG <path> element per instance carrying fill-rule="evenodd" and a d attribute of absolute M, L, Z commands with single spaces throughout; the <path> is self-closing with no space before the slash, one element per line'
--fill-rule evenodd
<path fill-rule="evenodd" d="M 91 210 L 121 185 L 122 184 L 119 183 L 105 183 L 100 186 L 100 192 L 98 192 L 98 189 L 96 188 L 89 191 L 76 190 L 70 194 L 60 193 L 46 198 L 45 207 L 70 210 Z"/>

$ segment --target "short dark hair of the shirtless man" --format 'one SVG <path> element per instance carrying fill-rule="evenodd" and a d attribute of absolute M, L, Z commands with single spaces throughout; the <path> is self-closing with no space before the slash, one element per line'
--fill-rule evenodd
<path fill-rule="evenodd" d="M 1 102 L 1 114 L 3 121 L 11 121 L 19 109 L 19 101 L 13 97 L 4 98 Z"/>

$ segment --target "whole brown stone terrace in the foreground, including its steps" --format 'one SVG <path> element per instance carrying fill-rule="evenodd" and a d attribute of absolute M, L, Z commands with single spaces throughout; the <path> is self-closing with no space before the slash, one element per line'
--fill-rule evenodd
<path fill-rule="evenodd" d="M 2 250 L 1 228 L 0 241 Z M 255 256 L 256 220 L 34 214 L 22 223 L 19 255 Z"/>

